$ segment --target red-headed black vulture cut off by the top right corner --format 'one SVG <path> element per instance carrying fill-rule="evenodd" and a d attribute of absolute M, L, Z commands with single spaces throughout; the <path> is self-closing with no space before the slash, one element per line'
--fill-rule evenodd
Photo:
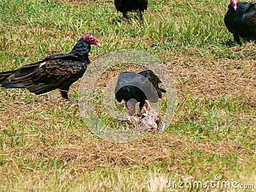
<path fill-rule="evenodd" d="M 230 0 L 224 17 L 225 25 L 234 36 L 234 41 L 241 44 L 240 36 L 246 40 L 256 38 L 256 4 L 246 1 Z"/>

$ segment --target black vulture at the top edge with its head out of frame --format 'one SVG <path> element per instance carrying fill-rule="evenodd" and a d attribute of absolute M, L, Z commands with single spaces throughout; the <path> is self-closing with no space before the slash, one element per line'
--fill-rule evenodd
<path fill-rule="evenodd" d="M 117 12 L 123 13 L 125 19 L 128 19 L 127 12 L 139 12 L 141 20 L 142 13 L 148 8 L 148 0 L 115 0 Z"/>

